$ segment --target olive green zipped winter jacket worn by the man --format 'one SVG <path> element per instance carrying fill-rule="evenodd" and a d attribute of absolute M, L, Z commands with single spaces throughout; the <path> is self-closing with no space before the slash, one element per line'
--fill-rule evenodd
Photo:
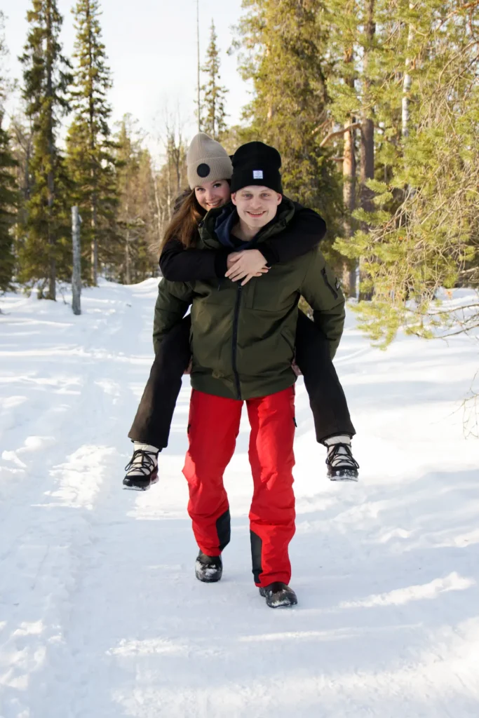
<path fill-rule="evenodd" d="M 292 220 L 294 205 L 284 209 L 254 239 L 280 232 Z M 283 207 L 282 205 L 282 207 Z M 215 223 L 222 210 L 210 210 L 199 228 L 197 247 L 218 249 Z M 241 286 L 229 279 L 179 282 L 162 279 L 154 311 L 153 342 L 159 342 L 191 305 L 192 387 L 198 391 L 248 399 L 292 386 L 299 297 L 310 304 L 315 323 L 338 348 L 345 318 L 339 283 L 319 249 Z"/>

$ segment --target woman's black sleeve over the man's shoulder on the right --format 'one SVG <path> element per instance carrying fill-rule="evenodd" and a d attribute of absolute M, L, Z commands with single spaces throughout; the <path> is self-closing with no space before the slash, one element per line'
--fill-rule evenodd
<path fill-rule="evenodd" d="M 317 247 L 326 234 L 326 223 L 315 210 L 294 203 L 292 222 L 281 233 L 258 247 L 269 266 L 289 262 Z"/>

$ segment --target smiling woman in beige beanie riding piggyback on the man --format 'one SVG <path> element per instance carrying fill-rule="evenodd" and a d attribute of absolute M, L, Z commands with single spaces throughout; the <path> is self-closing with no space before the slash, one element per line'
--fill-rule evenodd
<path fill-rule="evenodd" d="M 238 247 L 231 238 L 221 248 L 196 248 L 198 228 L 207 213 L 228 205 L 231 174 L 231 159 L 223 147 L 208 135 L 197 134 L 187 152 L 190 192 L 182 196 L 164 236 L 160 268 L 165 279 L 223 279 L 239 281 L 244 286 L 252 277 L 261 281 L 261 275 L 266 274 L 269 267 L 304 255 L 325 235 L 324 220 L 294 203 L 292 222 L 282 233 L 262 242 L 261 250 L 235 251 Z M 334 294 L 338 289 L 332 286 L 331 291 Z M 156 353 L 129 432 L 134 441 L 134 454 L 126 466 L 124 485 L 127 488 L 145 489 L 157 481 L 158 453 L 167 447 L 182 374 L 190 363 L 190 330 L 188 316 L 163 338 Z M 355 429 L 343 389 L 325 337 L 302 312 L 297 319 L 295 360 L 310 396 L 317 441 L 328 448 L 328 475 L 332 480 L 357 479 L 358 465 L 350 450 Z"/>

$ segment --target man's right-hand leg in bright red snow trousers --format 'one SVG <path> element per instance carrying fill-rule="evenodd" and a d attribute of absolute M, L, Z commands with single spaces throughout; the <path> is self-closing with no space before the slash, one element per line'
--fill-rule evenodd
<path fill-rule="evenodd" d="M 288 546 L 294 536 L 294 387 L 248 399 L 253 473 L 250 536 L 256 586 L 289 584 Z"/>

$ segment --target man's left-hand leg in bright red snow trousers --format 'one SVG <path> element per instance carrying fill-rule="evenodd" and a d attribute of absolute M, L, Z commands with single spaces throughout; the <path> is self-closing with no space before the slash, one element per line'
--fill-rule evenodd
<path fill-rule="evenodd" d="M 219 556 L 230 541 L 230 510 L 223 473 L 233 456 L 242 401 L 196 391 L 191 394 L 183 474 L 188 482 L 193 533 L 200 551 Z"/>

